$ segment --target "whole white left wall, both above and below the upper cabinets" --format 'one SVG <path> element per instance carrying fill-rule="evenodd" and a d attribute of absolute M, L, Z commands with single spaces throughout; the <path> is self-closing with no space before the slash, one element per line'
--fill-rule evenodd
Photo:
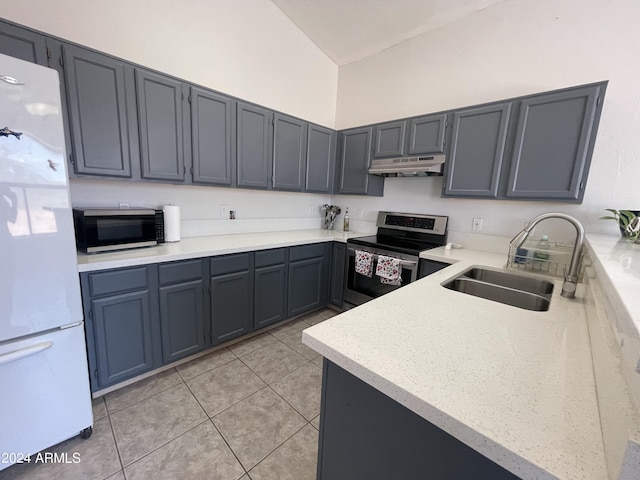
<path fill-rule="evenodd" d="M 338 67 L 269 0 L 24 0 L 0 17 L 333 128 Z M 329 196 L 74 180 L 74 206 L 182 206 L 183 236 L 317 228 Z M 220 204 L 237 220 L 220 217 Z M 309 209 L 313 212 L 310 213 Z"/>

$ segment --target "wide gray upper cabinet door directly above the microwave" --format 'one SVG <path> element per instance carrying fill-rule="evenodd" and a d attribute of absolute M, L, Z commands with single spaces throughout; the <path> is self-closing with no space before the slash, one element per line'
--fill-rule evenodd
<path fill-rule="evenodd" d="M 123 62 L 63 45 L 75 172 L 131 177 L 131 123 Z"/>

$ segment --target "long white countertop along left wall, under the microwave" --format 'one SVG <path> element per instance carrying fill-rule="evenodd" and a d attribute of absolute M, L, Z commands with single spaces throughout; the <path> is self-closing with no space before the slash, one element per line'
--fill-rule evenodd
<path fill-rule="evenodd" d="M 179 242 L 164 243 L 157 247 L 90 255 L 78 253 L 78 271 L 90 272 L 109 268 L 148 265 L 151 263 L 188 260 L 190 258 L 310 243 L 346 242 L 348 238 L 361 237 L 363 235 L 365 234 L 358 232 L 313 229 L 184 238 Z"/>

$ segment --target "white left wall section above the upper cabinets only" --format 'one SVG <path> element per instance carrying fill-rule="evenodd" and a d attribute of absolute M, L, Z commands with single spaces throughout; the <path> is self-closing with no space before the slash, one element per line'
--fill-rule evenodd
<path fill-rule="evenodd" d="M 338 67 L 269 0 L 24 0 L 0 17 L 334 126 Z"/>

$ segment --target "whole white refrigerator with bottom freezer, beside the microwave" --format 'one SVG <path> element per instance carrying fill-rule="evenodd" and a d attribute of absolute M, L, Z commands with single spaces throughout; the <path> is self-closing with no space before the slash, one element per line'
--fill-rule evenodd
<path fill-rule="evenodd" d="M 59 81 L 0 54 L 0 470 L 93 426 Z"/>

